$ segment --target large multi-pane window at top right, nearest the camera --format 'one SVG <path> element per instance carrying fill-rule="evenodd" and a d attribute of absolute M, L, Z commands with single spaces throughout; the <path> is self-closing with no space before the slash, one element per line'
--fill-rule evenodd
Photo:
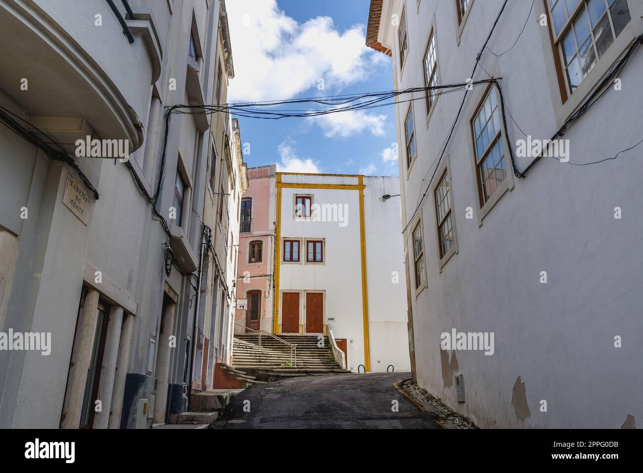
<path fill-rule="evenodd" d="M 568 93 L 583 82 L 631 20 L 627 0 L 545 0 Z"/>

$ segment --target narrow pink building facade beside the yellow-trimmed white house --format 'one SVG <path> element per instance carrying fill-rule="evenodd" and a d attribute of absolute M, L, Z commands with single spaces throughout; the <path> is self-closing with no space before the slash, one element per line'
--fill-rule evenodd
<path fill-rule="evenodd" d="M 275 274 L 275 165 L 248 169 L 248 190 L 241 200 L 237 300 L 247 310 L 235 313 L 235 333 L 271 332 Z"/>

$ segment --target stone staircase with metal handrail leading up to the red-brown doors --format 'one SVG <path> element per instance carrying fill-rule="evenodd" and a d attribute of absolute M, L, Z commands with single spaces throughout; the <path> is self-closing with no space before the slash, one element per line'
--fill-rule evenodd
<path fill-rule="evenodd" d="M 328 337 L 323 337 L 321 347 L 318 346 L 320 340 L 316 335 L 280 335 L 279 338 L 297 345 L 294 366 L 290 366 L 290 347 L 279 340 L 264 334 L 259 348 L 257 334 L 235 333 L 232 348 L 233 368 L 262 381 L 275 381 L 291 376 L 350 373 L 335 361 Z"/>

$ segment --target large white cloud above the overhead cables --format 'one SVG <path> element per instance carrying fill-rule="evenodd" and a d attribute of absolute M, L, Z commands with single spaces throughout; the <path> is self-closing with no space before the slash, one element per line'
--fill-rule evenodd
<path fill-rule="evenodd" d="M 387 60 L 365 45 L 361 24 L 340 32 L 330 17 L 298 23 L 276 0 L 233 0 L 226 9 L 235 68 L 229 102 L 292 98 L 318 79 L 325 89 L 341 88 Z"/>

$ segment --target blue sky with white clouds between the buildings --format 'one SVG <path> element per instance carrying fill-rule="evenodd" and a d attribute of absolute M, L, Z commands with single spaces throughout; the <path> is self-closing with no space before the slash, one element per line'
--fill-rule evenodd
<path fill-rule="evenodd" d="M 368 0 L 226 3 L 235 68 L 228 102 L 393 89 L 391 60 L 365 46 Z M 323 90 L 318 89 L 320 79 Z M 392 106 L 318 119 L 239 118 L 248 167 L 397 176 Z"/>

